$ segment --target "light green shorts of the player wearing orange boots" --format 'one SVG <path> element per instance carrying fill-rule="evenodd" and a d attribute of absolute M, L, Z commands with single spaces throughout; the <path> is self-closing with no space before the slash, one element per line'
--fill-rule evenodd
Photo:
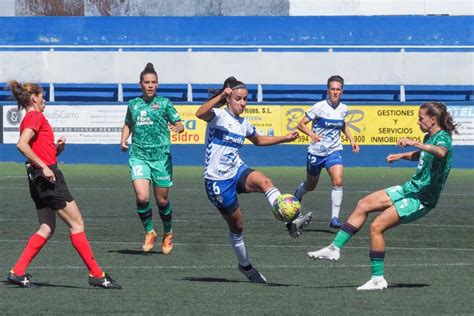
<path fill-rule="evenodd" d="M 169 188 L 173 185 L 173 164 L 167 160 L 147 161 L 137 158 L 128 160 L 131 180 L 148 179 L 154 187 Z"/>

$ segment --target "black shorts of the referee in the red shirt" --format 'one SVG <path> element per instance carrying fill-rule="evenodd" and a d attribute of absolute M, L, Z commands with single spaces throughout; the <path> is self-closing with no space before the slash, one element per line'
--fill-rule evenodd
<path fill-rule="evenodd" d="M 35 202 L 36 209 L 50 207 L 60 210 L 66 207 L 66 202 L 74 201 L 66 185 L 63 173 L 56 164 L 48 166 L 56 176 L 56 182 L 51 183 L 43 177 L 43 171 L 30 164 L 26 164 L 30 195 Z"/>

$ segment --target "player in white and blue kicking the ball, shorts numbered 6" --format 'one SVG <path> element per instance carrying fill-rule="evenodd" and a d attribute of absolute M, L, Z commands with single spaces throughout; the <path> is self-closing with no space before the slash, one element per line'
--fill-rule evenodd
<path fill-rule="evenodd" d="M 222 89 L 205 102 L 196 116 L 207 122 L 207 147 L 205 158 L 205 185 L 209 200 L 214 204 L 229 226 L 229 239 L 239 261 L 238 269 L 253 283 L 266 283 L 265 277 L 251 264 L 243 237 L 243 218 L 237 194 L 265 193 L 270 206 L 281 195 L 272 180 L 260 171 L 247 167 L 239 157 L 239 149 L 248 138 L 257 146 L 294 141 L 298 133 L 285 136 L 261 136 L 240 115 L 247 106 L 247 86 L 227 78 Z M 220 106 L 227 104 L 225 109 Z M 312 214 L 301 215 L 287 228 L 292 237 L 298 237 L 303 226 L 311 221 Z"/>

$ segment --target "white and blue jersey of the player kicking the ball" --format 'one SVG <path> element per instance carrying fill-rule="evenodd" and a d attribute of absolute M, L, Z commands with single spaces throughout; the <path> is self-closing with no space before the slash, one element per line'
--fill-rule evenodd
<path fill-rule="evenodd" d="M 214 117 L 207 122 L 206 159 L 204 177 L 226 180 L 235 176 L 244 164 L 239 149 L 247 137 L 255 135 L 255 127 L 245 118 L 227 109 L 214 109 Z"/>

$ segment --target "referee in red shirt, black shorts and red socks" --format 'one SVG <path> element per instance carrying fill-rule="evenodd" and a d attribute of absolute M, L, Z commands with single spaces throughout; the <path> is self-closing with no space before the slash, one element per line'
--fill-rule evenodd
<path fill-rule="evenodd" d="M 56 228 L 56 214 L 69 226 L 73 247 L 89 269 L 89 284 L 106 289 L 120 289 L 121 286 L 97 264 L 84 232 L 84 221 L 74 198 L 66 185 L 63 174 L 57 166 L 56 156 L 65 146 L 64 138 L 54 144 L 51 125 L 43 115 L 45 102 L 43 89 L 33 83 L 9 82 L 9 88 L 26 115 L 20 124 L 20 139 L 17 148 L 28 159 L 27 173 L 31 197 L 38 213 L 39 229 L 26 244 L 15 266 L 10 270 L 9 283 L 24 288 L 37 287 L 30 282 L 26 269 L 40 252 Z"/>

